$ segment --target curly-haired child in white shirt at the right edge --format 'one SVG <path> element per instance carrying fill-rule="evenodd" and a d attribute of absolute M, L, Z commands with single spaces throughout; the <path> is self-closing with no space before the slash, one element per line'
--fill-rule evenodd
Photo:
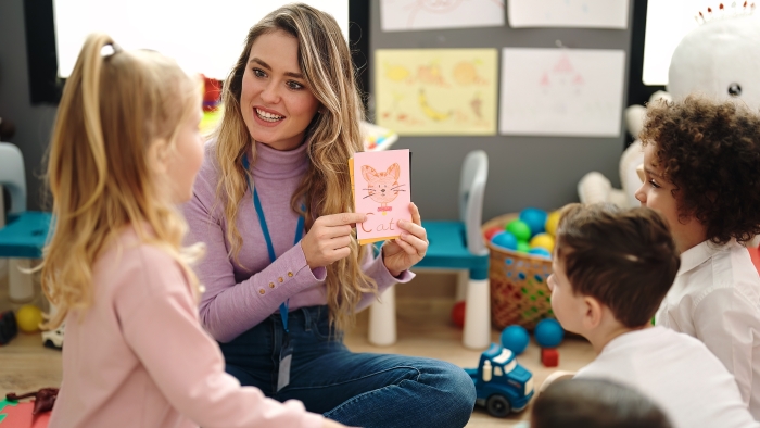
<path fill-rule="evenodd" d="M 760 419 L 760 277 L 744 247 L 760 234 L 760 116 L 689 97 L 650 104 L 639 137 L 636 199 L 666 217 L 681 252 L 656 324 L 705 342 Z"/>

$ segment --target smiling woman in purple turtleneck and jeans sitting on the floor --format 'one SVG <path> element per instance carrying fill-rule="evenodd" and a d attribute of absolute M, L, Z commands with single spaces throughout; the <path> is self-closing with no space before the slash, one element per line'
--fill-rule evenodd
<path fill-rule="evenodd" d="M 223 101 L 185 214 L 191 241 L 206 244 L 201 318 L 227 372 L 345 425 L 464 426 L 476 395 L 461 368 L 342 342 L 357 311 L 413 278 L 428 242 L 414 204 L 377 256 L 352 235 L 366 219 L 352 213 L 347 166 L 362 150 L 360 104 L 335 21 L 304 4 L 264 17 Z"/>

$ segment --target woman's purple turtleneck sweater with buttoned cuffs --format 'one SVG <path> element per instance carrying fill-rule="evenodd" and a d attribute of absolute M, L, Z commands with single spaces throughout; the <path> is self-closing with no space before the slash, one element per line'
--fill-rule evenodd
<path fill-rule="evenodd" d="M 206 289 L 201 299 L 201 322 L 216 340 L 229 342 L 278 311 L 288 299 L 290 311 L 327 304 L 327 269 L 311 269 L 301 242 L 293 244 L 299 215 L 290 207 L 290 199 L 308 166 L 306 144 L 291 151 L 278 151 L 256 143 L 253 184 L 277 260 L 269 261 L 251 189 L 248 189 L 240 201 L 237 218 L 243 238 L 239 260 L 245 267 L 235 263 L 229 255 L 232 246 L 226 239 L 228 224 L 224 206 L 216 197 L 219 168 L 213 144 L 206 144 L 193 198 L 182 205 L 182 212 L 189 225 L 186 243 L 206 244 L 205 256 L 194 266 Z M 382 257 L 375 257 L 371 251 L 366 253 L 362 268 L 377 281 L 380 292 L 414 277 L 406 270 L 394 278 Z M 367 307 L 373 297 L 371 293 L 364 295 L 357 310 Z"/>

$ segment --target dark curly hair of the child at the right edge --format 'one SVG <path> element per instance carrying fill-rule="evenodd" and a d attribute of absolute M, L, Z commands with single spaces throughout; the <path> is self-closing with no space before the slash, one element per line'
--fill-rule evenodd
<path fill-rule="evenodd" d="M 746 242 L 760 234 L 760 115 L 733 101 L 689 96 L 647 105 L 643 144 L 654 143 L 679 214 L 707 239 Z"/>

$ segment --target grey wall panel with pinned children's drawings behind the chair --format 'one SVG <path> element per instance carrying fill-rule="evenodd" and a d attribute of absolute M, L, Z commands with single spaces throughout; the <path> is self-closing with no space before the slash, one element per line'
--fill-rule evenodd
<path fill-rule="evenodd" d="M 484 221 L 577 201 L 591 171 L 619 186 L 632 7 L 371 0 L 369 115 L 414 153 L 423 218 L 458 216 L 459 169 L 476 149 L 490 161 Z"/>

